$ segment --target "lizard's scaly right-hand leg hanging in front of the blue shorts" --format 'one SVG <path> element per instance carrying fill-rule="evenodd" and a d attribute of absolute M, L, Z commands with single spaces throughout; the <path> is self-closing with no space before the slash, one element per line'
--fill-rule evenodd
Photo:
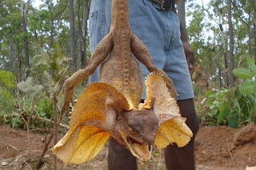
<path fill-rule="evenodd" d="M 146 45 L 144 45 L 143 42 L 140 41 L 138 37 L 134 34 L 132 34 L 131 36 L 130 49 L 131 52 L 134 53 L 134 56 L 138 59 L 138 61 L 145 65 L 146 68 L 150 71 L 150 73 L 157 73 L 162 76 L 163 80 L 166 82 L 166 86 L 168 87 L 168 91 L 172 97 L 174 97 L 175 95 L 178 96 L 178 93 L 174 88 L 173 81 L 170 79 L 170 77 L 167 76 L 167 74 L 162 69 L 158 69 L 154 65 L 152 58 L 150 57 L 150 52 L 146 48 Z"/>

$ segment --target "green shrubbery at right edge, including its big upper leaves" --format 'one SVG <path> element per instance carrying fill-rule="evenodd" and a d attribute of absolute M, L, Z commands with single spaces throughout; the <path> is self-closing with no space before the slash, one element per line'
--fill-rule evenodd
<path fill-rule="evenodd" d="M 237 128 L 252 121 L 256 122 L 256 65 L 254 59 L 247 57 L 250 69 L 234 69 L 236 77 L 246 79 L 242 85 L 233 89 L 213 89 L 206 92 L 208 110 L 201 114 L 201 119 L 207 125 L 228 125 Z"/>

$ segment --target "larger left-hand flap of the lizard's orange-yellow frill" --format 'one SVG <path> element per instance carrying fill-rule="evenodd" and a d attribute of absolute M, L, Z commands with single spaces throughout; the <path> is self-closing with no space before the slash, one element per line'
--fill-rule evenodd
<path fill-rule="evenodd" d="M 116 112 L 129 109 L 126 98 L 110 85 L 88 85 L 72 111 L 70 130 L 53 148 L 66 164 L 82 164 L 93 159 L 110 136 L 106 125 L 108 98 L 114 101 Z"/>

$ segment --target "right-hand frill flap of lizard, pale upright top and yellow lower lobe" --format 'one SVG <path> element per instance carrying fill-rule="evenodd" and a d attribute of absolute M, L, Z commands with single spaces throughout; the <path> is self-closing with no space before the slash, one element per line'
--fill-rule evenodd
<path fill-rule="evenodd" d="M 142 108 L 153 107 L 154 100 L 157 102 L 159 127 L 154 144 L 158 149 L 166 148 L 172 143 L 176 143 L 178 147 L 188 144 L 193 132 L 186 125 L 186 118 L 181 117 L 177 101 L 170 96 L 162 76 L 150 73 L 145 84 L 147 99 Z"/>

